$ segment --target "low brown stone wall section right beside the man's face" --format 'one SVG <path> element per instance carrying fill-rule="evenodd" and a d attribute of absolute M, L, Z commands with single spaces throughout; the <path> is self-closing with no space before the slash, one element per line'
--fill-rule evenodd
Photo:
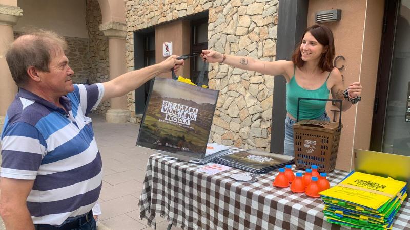
<path fill-rule="evenodd" d="M 66 56 L 70 67 L 74 71 L 73 83 L 84 84 L 90 82 L 90 55 L 87 38 L 65 37 L 68 45 Z"/>

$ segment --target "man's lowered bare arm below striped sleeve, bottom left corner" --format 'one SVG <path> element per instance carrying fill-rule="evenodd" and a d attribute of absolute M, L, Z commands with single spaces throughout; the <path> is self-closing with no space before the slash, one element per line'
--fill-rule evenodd
<path fill-rule="evenodd" d="M 0 177 L 0 215 L 7 230 L 34 230 L 27 197 L 34 180 Z"/>

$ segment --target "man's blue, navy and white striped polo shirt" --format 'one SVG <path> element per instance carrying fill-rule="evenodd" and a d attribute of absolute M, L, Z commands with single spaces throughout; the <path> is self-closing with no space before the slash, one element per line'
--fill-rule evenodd
<path fill-rule="evenodd" d="M 103 179 L 91 119 L 103 84 L 74 85 L 60 98 L 68 111 L 20 89 L 2 133 L 1 177 L 34 180 L 27 206 L 34 224 L 60 225 L 89 212 Z"/>

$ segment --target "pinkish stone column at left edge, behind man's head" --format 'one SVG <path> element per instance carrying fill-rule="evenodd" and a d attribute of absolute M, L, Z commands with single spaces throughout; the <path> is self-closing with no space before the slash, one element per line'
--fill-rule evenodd
<path fill-rule="evenodd" d="M 0 132 L 4 125 L 7 108 L 17 93 L 17 86 L 11 77 L 5 54 L 8 46 L 14 40 L 13 26 L 21 16 L 23 16 L 23 10 L 19 7 L 0 5 Z"/>

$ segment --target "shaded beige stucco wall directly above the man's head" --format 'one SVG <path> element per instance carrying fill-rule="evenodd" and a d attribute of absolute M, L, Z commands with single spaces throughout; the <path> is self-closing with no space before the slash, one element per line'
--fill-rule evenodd
<path fill-rule="evenodd" d="M 84 0 L 18 0 L 17 4 L 23 9 L 24 16 L 14 26 L 16 32 L 34 26 L 65 37 L 88 38 Z"/>

